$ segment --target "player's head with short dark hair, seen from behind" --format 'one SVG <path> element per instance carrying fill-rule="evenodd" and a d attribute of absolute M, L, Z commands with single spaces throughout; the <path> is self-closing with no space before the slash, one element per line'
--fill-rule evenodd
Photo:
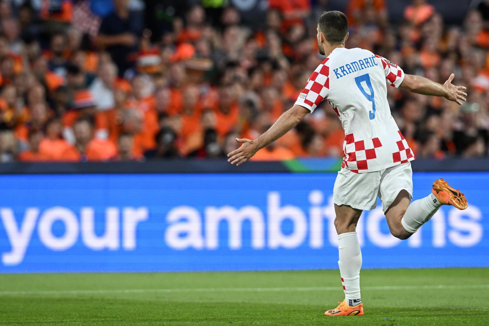
<path fill-rule="evenodd" d="M 348 19 L 341 11 L 325 11 L 319 17 L 319 31 L 330 44 L 343 43 L 348 33 Z"/>

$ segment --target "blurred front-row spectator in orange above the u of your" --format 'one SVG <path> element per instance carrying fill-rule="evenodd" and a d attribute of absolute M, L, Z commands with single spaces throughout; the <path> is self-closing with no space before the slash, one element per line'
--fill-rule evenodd
<path fill-rule="evenodd" d="M 81 118 L 73 125 L 75 144 L 63 153 L 64 161 L 106 161 L 117 154 L 115 145 L 109 140 L 93 138 L 90 119 Z"/>

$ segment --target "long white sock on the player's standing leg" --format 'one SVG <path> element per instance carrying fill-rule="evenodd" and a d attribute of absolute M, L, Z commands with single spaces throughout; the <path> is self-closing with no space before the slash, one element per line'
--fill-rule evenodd
<path fill-rule="evenodd" d="M 339 272 L 347 304 L 355 306 L 360 301 L 360 268 L 362 253 L 356 232 L 338 235 Z"/>

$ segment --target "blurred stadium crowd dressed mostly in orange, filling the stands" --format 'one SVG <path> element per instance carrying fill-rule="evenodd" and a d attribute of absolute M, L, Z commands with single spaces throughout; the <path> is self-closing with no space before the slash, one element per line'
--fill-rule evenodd
<path fill-rule="evenodd" d="M 324 0 L 268 0 L 257 25 L 230 5 L 209 8 L 216 1 L 163 0 L 158 30 L 143 1 L 98 2 L 101 16 L 89 0 L 0 1 L 1 162 L 223 157 L 289 109 L 324 59 Z M 386 2 L 348 1 L 347 47 L 442 84 L 454 72 L 468 88 L 459 107 L 388 87 L 415 155 L 488 155 L 489 1 L 475 0 L 460 26 L 424 0 L 393 23 Z M 254 159 L 341 157 L 343 138 L 324 101 Z"/>

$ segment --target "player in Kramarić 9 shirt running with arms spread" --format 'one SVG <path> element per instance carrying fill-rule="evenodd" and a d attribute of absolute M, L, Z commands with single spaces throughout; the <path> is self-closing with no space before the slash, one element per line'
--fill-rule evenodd
<path fill-rule="evenodd" d="M 444 85 L 405 75 L 398 65 L 368 50 L 347 49 L 347 39 L 346 16 L 339 11 L 324 12 L 317 25 L 317 43 L 319 53 L 326 59 L 311 74 L 291 109 L 260 137 L 236 139 L 243 145 L 227 155 L 231 164 L 241 165 L 292 129 L 323 100 L 332 105 L 345 130 L 343 164 L 333 189 L 338 265 L 345 300 L 326 311 L 327 316 L 363 315 L 359 276 L 362 256 L 355 230 L 362 210 L 376 207 L 377 196 L 392 235 L 399 239 L 414 234 L 441 205 L 467 208 L 464 194 L 443 179 L 433 183 L 428 196 L 410 203 L 410 161 L 414 155 L 391 115 L 386 84 L 443 96 L 459 105 L 466 100 L 466 87 L 452 85 L 453 74 Z"/>

